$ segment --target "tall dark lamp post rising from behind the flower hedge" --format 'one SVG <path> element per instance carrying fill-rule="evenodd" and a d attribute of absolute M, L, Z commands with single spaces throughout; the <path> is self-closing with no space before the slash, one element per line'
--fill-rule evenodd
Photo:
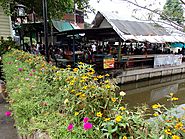
<path fill-rule="evenodd" d="M 42 0 L 42 4 L 43 4 L 43 16 L 44 16 L 44 40 L 45 40 L 45 48 L 46 48 L 46 61 L 49 62 L 47 0 Z"/>

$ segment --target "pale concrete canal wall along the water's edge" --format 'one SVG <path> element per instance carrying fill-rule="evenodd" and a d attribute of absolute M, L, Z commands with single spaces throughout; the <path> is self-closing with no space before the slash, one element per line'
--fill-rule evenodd
<path fill-rule="evenodd" d="M 126 82 L 138 81 L 141 79 L 150 79 L 154 77 L 163 77 L 180 73 L 185 73 L 185 63 L 182 63 L 180 66 L 173 67 L 121 71 L 121 74 L 116 76 L 116 81 L 117 83 L 123 84 Z"/>

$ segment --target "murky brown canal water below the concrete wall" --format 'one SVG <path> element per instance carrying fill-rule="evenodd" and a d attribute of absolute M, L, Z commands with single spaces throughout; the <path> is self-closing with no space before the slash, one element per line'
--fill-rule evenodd
<path fill-rule="evenodd" d="M 146 104 L 149 107 L 155 103 L 170 106 L 167 96 L 174 93 L 179 100 L 176 104 L 185 104 L 185 74 L 155 78 L 120 85 L 120 90 L 126 92 L 124 102 L 129 108 Z"/>

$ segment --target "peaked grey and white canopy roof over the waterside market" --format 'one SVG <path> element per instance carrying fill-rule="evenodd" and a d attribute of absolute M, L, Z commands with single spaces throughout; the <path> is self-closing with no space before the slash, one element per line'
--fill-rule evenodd
<path fill-rule="evenodd" d="M 98 12 L 92 24 L 93 28 L 113 28 L 124 41 L 135 40 L 151 43 L 185 42 L 185 37 L 172 36 L 159 24 L 138 20 L 122 20 L 116 14 L 109 12 Z"/>

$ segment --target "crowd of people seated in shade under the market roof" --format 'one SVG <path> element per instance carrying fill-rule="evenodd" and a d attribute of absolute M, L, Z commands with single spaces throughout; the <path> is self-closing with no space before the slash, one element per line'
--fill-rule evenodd
<path fill-rule="evenodd" d="M 51 45 L 49 44 L 48 53 L 49 58 L 54 59 L 66 59 L 73 62 L 84 62 L 90 64 L 96 64 L 97 61 L 103 62 L 106 57 L 118 59 L 119 45 L 115 43 L 75 43 L 67 45 Z M 163 49 L 161 49 L 163 48 Z M 121 43 L 121 56 L 125 55 L 147 55 L 147 54 L 170 54 L 171 51 L 167 49 L 165 45 L 161 47 L 160 44 L 149 43 Z M 25 51 L 31 54 L 46 55 L 45 45 L 38 43 L 36 45 L 29 46 L 24 44 Z M 181 51 L 184 53 L 184 49 Z M 180 53 L 180 51 L 179 51 Z M 75 60 L 75 61 L 74 61 Z"/>

